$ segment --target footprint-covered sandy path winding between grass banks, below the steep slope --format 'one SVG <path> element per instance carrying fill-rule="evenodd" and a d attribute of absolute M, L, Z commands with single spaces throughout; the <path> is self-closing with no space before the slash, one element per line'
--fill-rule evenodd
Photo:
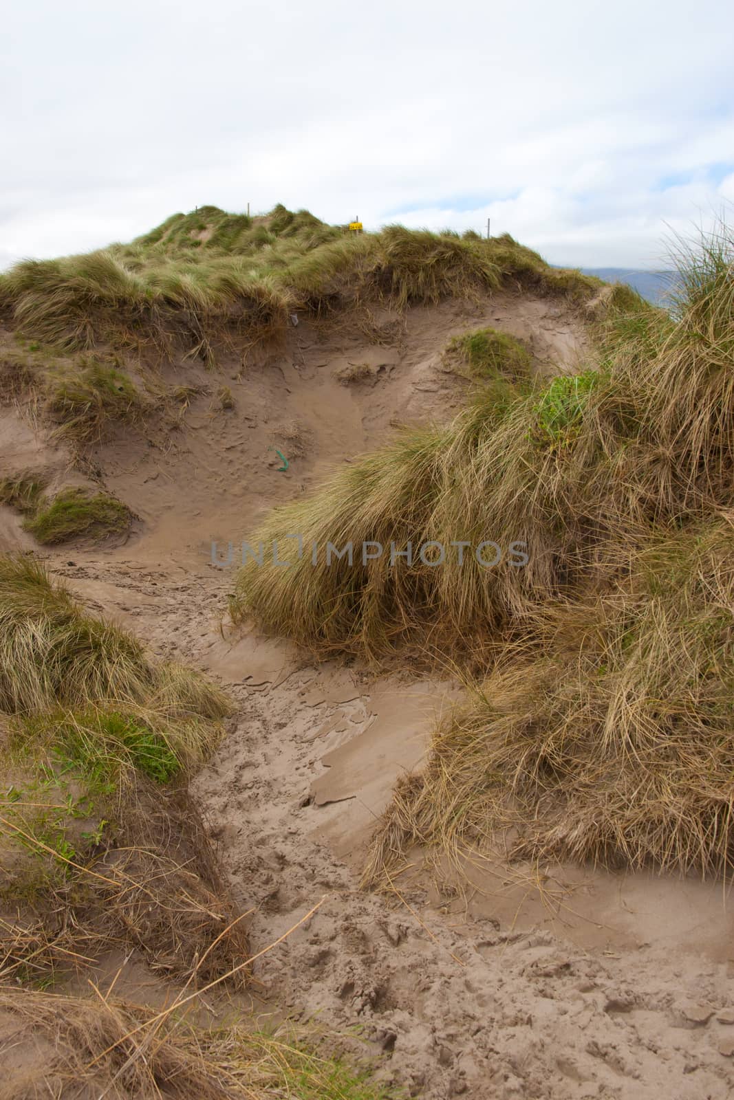
<path fill-rule="evenodd" d="M 406 760 L 419 759 L 445 685 L 370 683 L 299 663 L 281 642 L 222 638 L 227 576 L 211 568 L 172 575 L 97 559 L 59 571 L 160 652 L 218 672 L 241 704 L 194 790 L 237 901 L 258 906 L 253 948 L 324 899 L 258 965 L 274 1007 L 359 1026 L 386 1055 L 385 1076 L 431 1100 L 732 1094 L 732 921 L 721 886 L 577 872 L 560 919 L 517 882 L 495 882 L 494 899 L 469 908 L 409 878 L 390 905 L 361 893 L 353 866 L 372 814 Z"/>

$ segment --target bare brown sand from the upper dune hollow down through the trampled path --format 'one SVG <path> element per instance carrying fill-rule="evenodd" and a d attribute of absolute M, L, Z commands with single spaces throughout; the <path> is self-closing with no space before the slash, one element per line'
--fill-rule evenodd
<path fill-rule="evenodd" d="M 121 433 L 96 455 L 139 529 L 124 547 L 67 548 L 51 562 L 94 607 L 210 670 L 240 703 L 194 789 L 235 900 L 256 905 L 254 950 L 322 899 L 258 964 L 273 1007 L 362 1028 L 385 1076 L 432 1100 L 723 1100 L 734 1089 L 734 922 L 721 884 L 571 868 L 532 877 L 497 862 L 471 869 L 462 892 L 448 873 L 431 881 L 416 853 L 392 898 L 360 892 L 375 815 L 456 689 L 405 670 L 373 681 L 313 668 L 286 642 L 220 622 L 231 573 L 209 563 L 211 540 L 241 539 L 263 508 L 394 422 L 459 407 L 464 383 L 440 363 L 448 336 L 491 323 L 532 337 L 540 370 L 572 365 L 584 345 L 573 317 L 528 298 L 376 323 L 376 345 L 299 324 L 270 360 L 224 364 L 231 411 L 213 402 L 221 378 L 182 367 L 180 381 L 210 392 L 180 429 Z M 340 383 L 364 363 L 364 381 Z M 289 453 L 286 472 L 270 447 Z"/>

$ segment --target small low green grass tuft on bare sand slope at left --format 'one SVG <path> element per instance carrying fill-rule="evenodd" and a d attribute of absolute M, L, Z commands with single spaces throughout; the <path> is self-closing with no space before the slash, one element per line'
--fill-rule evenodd
<path fill-rule="evenodd" d="M 65 488 L 52 501 L 40 502 L 23 527 L 43 546 L 52 546 L 81 536 L 103 539 L 123 534 L 131 521 L 130 508 L 108 493 Z"/>

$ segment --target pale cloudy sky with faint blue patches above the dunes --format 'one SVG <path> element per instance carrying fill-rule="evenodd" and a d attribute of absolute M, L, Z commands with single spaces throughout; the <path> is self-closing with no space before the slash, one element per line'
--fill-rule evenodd
<path fill-rule="evenodd" d="M 731 215 L 733 38 L 723 0 L 24 0 L 0 268 L 248 202 L 666 266 Z"/>

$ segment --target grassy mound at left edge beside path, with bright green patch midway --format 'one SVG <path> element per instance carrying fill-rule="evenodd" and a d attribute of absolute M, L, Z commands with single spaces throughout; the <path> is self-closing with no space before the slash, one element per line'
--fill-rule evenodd
<path fill-rule="evenodd" d="M 177 977 L 242 957 L 185 790 L 229 713 L 219 689 L 153 662 L 32 559 L 0 559 L 6 979 L 54 981 L 116 946 Z"/>

